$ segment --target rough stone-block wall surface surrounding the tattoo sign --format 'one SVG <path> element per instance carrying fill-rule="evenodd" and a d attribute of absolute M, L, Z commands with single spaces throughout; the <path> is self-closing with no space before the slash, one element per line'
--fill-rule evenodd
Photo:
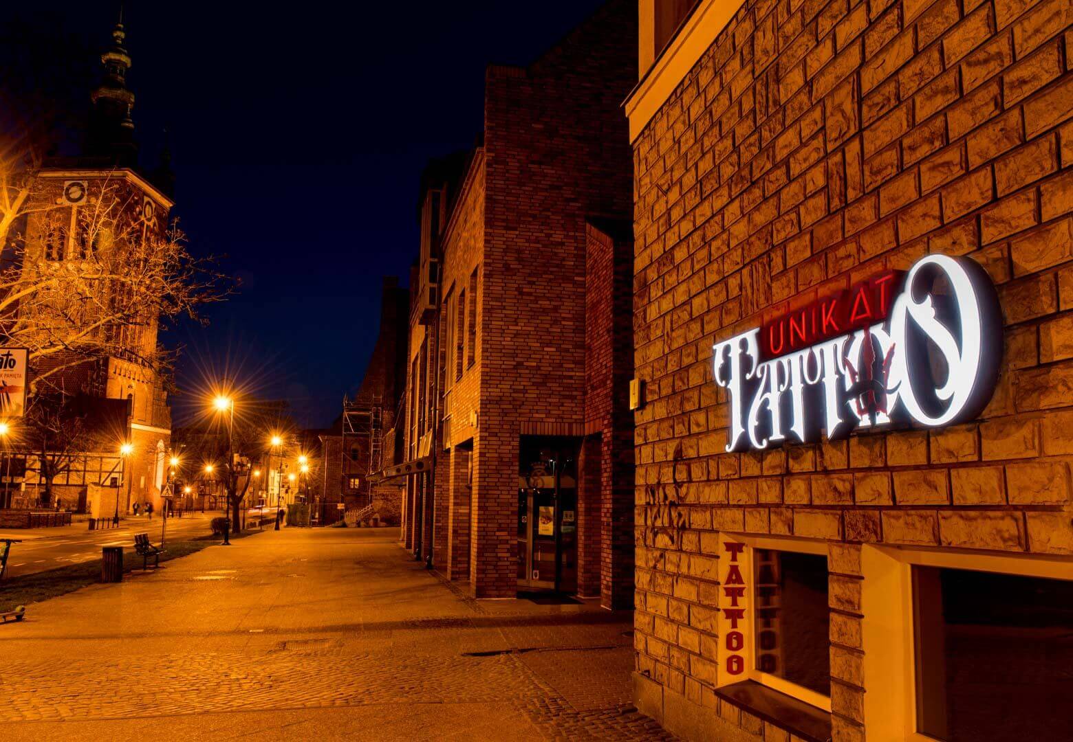
<path fill-rule="evenodd" d="M 861 544 L 1073 552 L 1071 21 L 1063 0 L 748 0 L 634 143 L 637 667 L 758 738 L 785 736 L 711 691 L 716 531 L 831 541 L 836 740 L 863 739 Z M 999 290 L 979 420 L 723 452 L 715 341 L 936 252 Z"/>

